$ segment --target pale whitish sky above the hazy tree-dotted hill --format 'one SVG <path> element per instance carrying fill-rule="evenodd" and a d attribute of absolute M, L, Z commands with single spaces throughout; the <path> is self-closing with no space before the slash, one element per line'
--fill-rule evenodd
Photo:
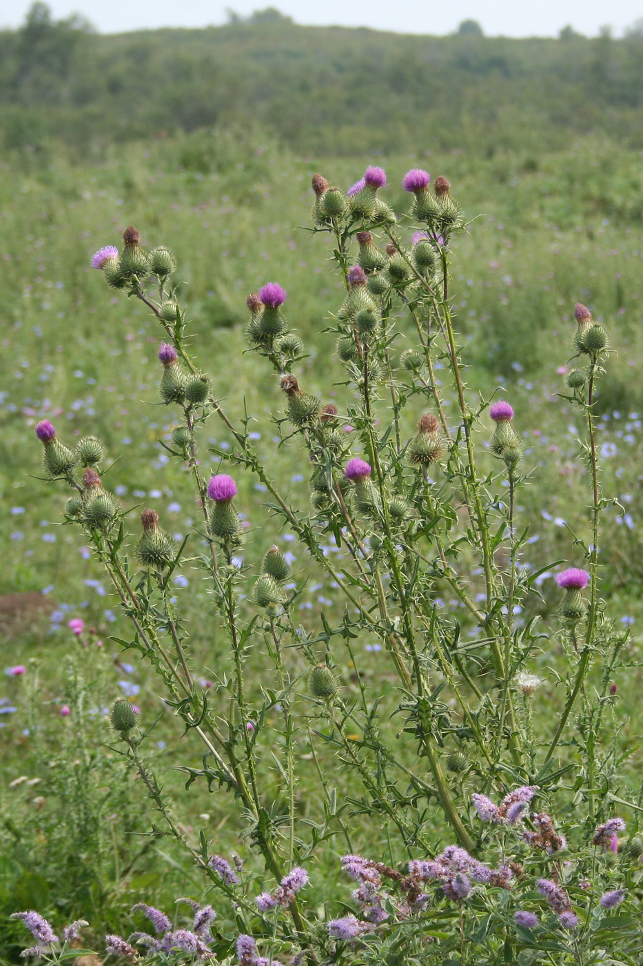
<path fill-rule="evenodd" d="M 0 26 L 18 26 L 30 0 L 0 0 Z M 77 12 L 101 33 L 154 27 L 204 27 L 226 20 L 226 8 L 250 14 L 275 6 L 302 24 L 341 24 L 399 33 L 449 34 L 461 20 L 478 20 L 486 34 L 554 37 L 561 27 L 595 37 L 602 26 L 615 36 L 643 18 L 643 0 L 49 0 L 56 17 Z"/>

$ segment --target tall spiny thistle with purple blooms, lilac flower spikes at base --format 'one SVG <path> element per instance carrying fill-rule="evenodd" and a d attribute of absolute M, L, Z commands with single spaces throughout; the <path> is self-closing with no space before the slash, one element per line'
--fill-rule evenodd
<path fill-rule="evenodd" d="M 606 499 L 594 420 L 607 331 L 576 307 L 579 367 L 566 398 L 584 416 L 590 515 L 587 533 L 571 534 L 572 566 L 557 578 L 564 593 L 544 613 L 539 577 L 563 561 L 538 571 L 525 565 L 529 521 L 520 519 L 517 494 L 534 469 L 520 413 L 504 399 L 474 398 L 464 381 L 450 275 L 466 228 L 461 207 L 446 178 L 432 187 L 429 174 L 414 169 L 404 179 L 410 208 L 398 218 L 381 196 L 385 185 L 377 167 L 347 191 L 313 179 L 311 232 L 330 242 L 345 288 L 341 303 L 329 306 L 327 328 L 344 374 L 337 402 L 306 386 L 305 347 L 289 326 L 286 291 L 267 282 L 246 301 L 249 348 L 275 377 L 278 439 L 310 466 L 303 506 L 275 484 L 248 414 L 223 408 L 215 374 L 204 374 L 188 350 L 172 252 L 145 249 L 129 227 L 120 252 L 110 246 L 94 257 L 108 286 L 139 299 L 158 323 L 159 398 L 176 417 L 165 445 L 191 476 L 201 523 L 179 545 L 145 509 L 142 530 L 130 534 L 126 508 L 105 485 L 100 440 L 72 450 L 47 421 L 37 427 L 43 466 L 72 490 L 67 522 L 83 530 L 120 597 L 131 631 L 119 642 L 153 668 L 185 742 L 201 745 L 203 767 L 183 769 L 188 783 L 231 795 L 248 853 L 245 866 L 233 867 L 205 834 L 198 842 L 187 836 L 146 761 L 145 723 L 118 701 L 117 749 L 166 834 L 203 873 L 212 901 L 234 909 L 238 931 L 212 938 L 193 925 L 196 939 L 181 943 L 185 930 L 160 913 L 157 927 L 146 913 L 161 938 L 111 937 L 108 947 L 131 961 L 165 962 L 178 947 L 241 964 L 589 964 L 615 951 L 633 963 L 643 785 L 636 801 L 624 797 L 619 746 L 605 721 L 627 634 L 616 632 L 599 596 Z M 448 371 L 449 386 L 436 379 L 438 368 Z M 219 469 L 208 479 L 200 454 L 213 419 L 233 445 L 210 444 Z M 264 526 L 274 540 L 252 564 L 238 556 L 248 538 L 238 491 L 246 477 L 267 492 Z M 293 572 L 280 550 L 282 527 L 307 552 L 310 573 L 325 574 L 344 599 L 334 622 L 320 612 L 317 622 L 297 623 L 306 574 Z M 324 553 L 328 543 L 340 564 Z M 193 644 L 170 592 L 173 575 L 195 567 L 229 642 L 226 667 L 207 693 L 196 683 Z M 462 622 L 445 609 L 446 591 Z M 525 610 L 532 616 L 518 620 Z M 393 697 L 368 673 L 353 646 L 358 638 L 385 652 Z M 536 659 L 554 641 L 565 656 L 565 696 L 548 733 L 535 734 Z M 347 663 L 356 682 L 350 690 L 340 670 Z M 384 714 L 393 730 L 381 726 Z M 314 819 L 296 807 L 304 745 L 322 802 Z M 343 801 L 331 791 L 338 768 Z M 628 838 L 620 837 L 626 825 L 617 810 L 628 815 Z M 386 863 L 353 853 L 364 821 L 385 830 Z M 321 921 L 309 898 L 315 868 L 346 847 L 342 867 L 357 888 L 351 901 L 328 898 L 337 915 Z M 617 931 L 608 918 L 620 903 Z M 210 913 L 196 903 L 201 915 Z"/>

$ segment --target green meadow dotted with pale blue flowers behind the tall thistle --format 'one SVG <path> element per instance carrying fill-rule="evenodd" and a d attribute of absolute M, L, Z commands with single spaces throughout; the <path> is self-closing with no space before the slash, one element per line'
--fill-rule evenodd
<path fill-rule="evenodd" d="M 191 737 L 182 739 L 181 722 L 160 700 L 154 677 L 115 642 L 126 637 L 119 601 L 77 532 L 60 526 L 65 494 L 42 482 L 34 427 L 50 418 L 70 440 L 87 433 L 105 440 L 114 461 L 110 487 L 130 508 L 132 521 L 143 506 L 152 506 L 181 541 L 199 514 L 188 473 L 163 445 L 173 416 L 157 397 L 162 332 L 143 305 L 106 290 L 90 268 L 91 255 L 102 245 L 118 245 L 130 223 L 146 244 L 172 245 L 194 342 L 216 398 L 236 419 L 248 414 L 251 439 L 270 459 L 280 488 L 306 503 L 305 452 L 296 443 L 275 444 L 280 436 L 270 413 L 278 410 L 278 382 L 263 360 L 246 352 L 245 298 L 268 281 L 283 285 L 307 354 L 299 378 L 313 394 L 327 393 L 330 385 L 338 396 L 344 393 L 334 342 L 324 335 L 342 301 L 343 282 L 329 273 L 326 247 L 307 230 L 310 184 L 320 169 L 346 188 L 368 162 L 385 166 L 386 198 L 396 211 L 405 207 L 402 177 L 418 165 L 433 176 L 446 175 L 461 203 L 467 228 L 454 246 L 452 299 L 467 391 L 475 400 L 502 386 L 517 412 L 530 470 L 517 510 L 530 521 L 524 565 L 533 571 L 550 560 L 568 560 L 574 534 L 588 522 L 587 502 L 578 497 L 588 469 L 577 458 L 577 415 L 561 398 L 568 392 L 574 303 L 590 306 L 609 329 L 612 353 L 596 404 L 604 492 L 613 500 L 602 525 L 601 594 L 611 619 L 629 634 L 612 682 L 618 704 L 613 741 L 621 756 L 619 794 L 626 800 L 637 794 L 643 621 L 640 153 L 595 135 L 564 151 L 498 151 L 490 157 L 437 150 L 423 156 L 301 157 L 262 128 L 131 141 L 105 149 L 92 163 L 53 143 L 16 149 L 3 156 L 0 182 L 3 961 L 16 961 L 21 948 L 21 926 L 9 920 L 16 908 L 34 907 L 59 920 L 83 916 L 97 929 L 126 933 L 132 927 L 128 909 L 141 895 L 168 907 L 178 895 L 203 893 L 200 873 L 185 862 L 176 841 L 160 831 L 149 836 L 153 819 L 145 789 L 127 770 L 109 728 L 108 709 L 118 696 L 134 700 L 142 716 L 155 722 L 149 753 L 177 803 L 185 836 L 197 843 L 203 829 L 225 854 L 245 850 L 251 861 L 247 842 L 239 843 L 230 798 L 216 788 L 209 793 L 202 781 L 186 789 L 185 774 L 173 771 L 179 765 L 198 768 L 199 749 Z M 394 352 L 404 351 L 411 337 L 410 329 L 403 331 Z M 455 409 L 449 390 L 445 405 Z M 411 432 L 412 418 L 403 419 Z M 204 432 L 215 450 L 204 473 L 216 472 L 216 451 L 230 451 L 235 440 L 215 416 Z M 480 432 L 477 442 L 484 450 Z M 293 534 L 276 530 L 266 515 L 263 484 L 244 473 L 238 489 L 252 522 L 243 555 L 252 561 L 273 543 L 284 550 L 294 545 Z M 289 559 L 295 573 L 303 568 L 296 553 Z M 472 595 L 480 590 L 475 572 L 469 588 Z M 538 588 L 541 596 L 534 595 L 531 611 L 518 620 L 552 610 L 552 573 L 538 578 Z M 28 611 L 16 613 L 26 598 L 15 595 L 28 593 L 34 595 Z M 187 614 L 200 684 L 208 689 L 226 660 L 225 634 L 198 572 L 177 576 L 174 593 Z M 475 621 L 446 590 L 442 604 L 458 618 L 463 639 L 475 635 Z M 337 587 L 315 568 L 295 608 L 305 632 L 319 626 L 320 612 L 331 624 L 342 619 Z M 70 621 L 78 619 L 83 629 L 76 634 Z M 354 646 L 391 712 L 396 686 L 385 655 L 368 636 Z M 547 730 L 552 710 L 560 708 L 561 661 L 552 634 L 533 661 L 545 680 L 534 705 L 537 732 Z M 349 655 L 341 670 L 356 693 L 360 683 Z M 250 684 L 251 690 L 259 686 L 259 680 Z M 395 729 L 392 712 L 380 726 Z M 311 820 L 322 811 L 311 792 L 317 753 L 302 739 L 297 754 L 311 785 L 300 781 L 297 810 Z M 266 781 L 278 778 L 268 775 Z M 335 781 L 341 798 L 349 791 L 341 769 Z M 628 818 L 636 821 L 635 812 Z M 434 835 L 439 838 L 439 828 Z M 353 850 L 366 843 L 373 848 L 373 837 L 368 816 L 358 814 Z M 399 859 L 385 829 L 377 832 L 377 846 L 382 854 L 391 849 L 391 861 Z M 320 863 L 314 887 L 320 903 L 333 889 L 341 895 L 338 875 L 330 863 Z"/>

